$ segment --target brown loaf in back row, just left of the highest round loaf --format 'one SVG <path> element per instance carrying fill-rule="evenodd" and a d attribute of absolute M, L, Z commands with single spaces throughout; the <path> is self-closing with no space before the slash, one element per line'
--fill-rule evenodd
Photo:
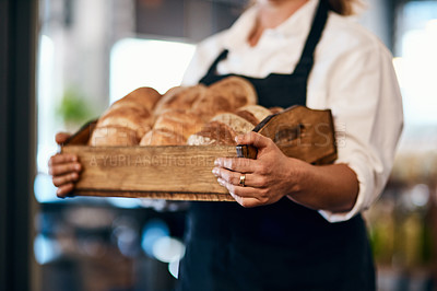
<path fill-rule="evenodd" d="M 155 114 L 160 115 L 167 109 L 190 109 L 192 104 L 206 92 L 203 84 L 194 86 L 175 86 L 168 90 L 156 104 Z"/>

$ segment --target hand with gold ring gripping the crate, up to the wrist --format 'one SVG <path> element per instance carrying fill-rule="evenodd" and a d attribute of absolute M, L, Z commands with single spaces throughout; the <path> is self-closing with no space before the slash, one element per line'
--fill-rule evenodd
<path fill-rule="evenodd" d="M 270 205 L 298 190 L 305 162 L 287 158 L 271 139 L 253 131 L 238 136 L 236 141 L 256 147 L 257 160 L 218 158 L 212 172 L 238 203 L 243 207 Z M 243 175 L 246 175 L 245 183 L 240 185 Z"/>

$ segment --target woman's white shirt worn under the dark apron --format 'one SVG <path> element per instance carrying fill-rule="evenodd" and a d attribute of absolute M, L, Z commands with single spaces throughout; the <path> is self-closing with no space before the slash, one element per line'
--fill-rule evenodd
<path fill-rule="evenodd" d="M 247 43 L 257 18 L 257 7 L 250 8 L 229 30 L 198 45 L 182 84 L 198 83 L 223 49 L 229 53 L 217 66 L 220 74 L 264 78 L 293 72 L 317 4 L 318 0 L 309 0 L 280 26 L 265 30 L 255 47 Z M 359 182 L 351 211 L 321 209 L 319 213 L 330 222 L 349 220 L 382 191 L 402 130 L 402 98 L 391 54 L 359 24 L 329 12 L 308 79 L 307 106 L 332 110 L 338 131 L 335 163 L 347 164 Z"/>

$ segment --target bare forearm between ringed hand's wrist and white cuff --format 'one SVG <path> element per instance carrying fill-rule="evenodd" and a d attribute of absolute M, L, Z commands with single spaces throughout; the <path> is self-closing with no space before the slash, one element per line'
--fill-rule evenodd
<path fill-rule="evenodd" d="M 296 166 L 296 161 L 293 164 Z M 295 167 L 296 168 L 296 167 Z M 293 201 L 317 210 L 350 211 L 358 195 L 355 172 L 345 164 L 315 166 L 302 163 L 292 171 L 294 185 L 287 195 Z M 296 174 L 297 171 L 297 174 Z"/>

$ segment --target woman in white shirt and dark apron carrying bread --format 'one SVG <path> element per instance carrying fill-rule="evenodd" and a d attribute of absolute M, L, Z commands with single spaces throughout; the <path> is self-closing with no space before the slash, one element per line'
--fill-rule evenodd
<path fill-rule="evenodd" d="M 347 0 L 259 0 L 199 45 L 185 84 L 241 75 L 260 105 L 331 108 L 341 132 L 339 159 L 326 166 L 286 158 L 258 133 L 238 137 L 257 160 L 215 161 L 238 203 L 191 205 L 181 290 L 375 290 L 359 212 L 387 182 L 402 104 L 390 54 L 342 16 L 350 9 Z M 59 196 L 76 167 L 74 156 L 51 159 Z"/>

